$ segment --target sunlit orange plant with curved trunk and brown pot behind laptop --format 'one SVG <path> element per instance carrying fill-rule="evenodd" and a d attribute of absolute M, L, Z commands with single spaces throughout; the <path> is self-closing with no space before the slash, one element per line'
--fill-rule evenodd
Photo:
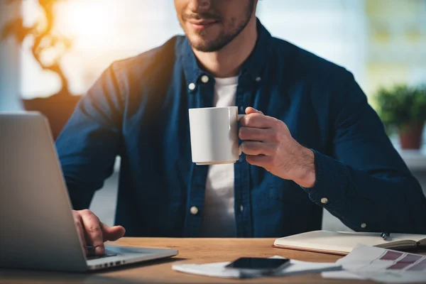
<path fill-rule="evenodd" d="M 8 0 L 9 3 L 25 0 Z M 28 111 L 40 111 L 49 120 L 53 137 L 57 138 L 63 126 L 72 115 L 80 96 L 72 95 L 68 80 L 63 72 L 61 60 L 70 48 L 72 39 L 62 35 L 55 28 L 55 5 L 63 0 L 38 0 L 43 13 L 33 26 L 24 26 L 23 18 L 18 17 L 6 23 L 0 39 L 13 37 L 22 46 L 23 40 L 32 38 L 31 53 L 43 70 L 53 72 L 60 78 L 58 93 L 45 98 L 23 99 L 23 107 Z M 45 54 L 50 56 L 46 60 Z"/>

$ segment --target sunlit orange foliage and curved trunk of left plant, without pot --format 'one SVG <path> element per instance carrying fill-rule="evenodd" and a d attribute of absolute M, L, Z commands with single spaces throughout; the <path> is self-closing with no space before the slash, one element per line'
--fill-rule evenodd
<path fill-rule="evenodd" d="M 1 0 L 4 1 L 4 0 Z M 9 4 L 26 0 L 6 0 Z M 24 26 L 23 18 L 18 17 L 6 23 L 1 32 L 0 39 L 14 37 L 19 45 L 26 38 L 31 40 L 31 53 L 43 70 L 55 72 L 60 77 L 61 89 L 58 96 L 70 95 L 67 77 L 61 67 L 61 60 L 72 47 L 71 38 L 62 35 L 55 28 L 55 6 L 63 0 L 38 0 L 42 11 L 40 18 L 33 26 Z"/>

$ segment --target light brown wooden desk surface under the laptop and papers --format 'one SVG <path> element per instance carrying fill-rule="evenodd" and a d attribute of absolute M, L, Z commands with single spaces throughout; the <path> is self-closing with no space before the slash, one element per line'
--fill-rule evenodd
<path fill-rule="evenodd" d="M 236 280 L 179 273 L 174 263 L 212 263 L 232 261 L 241 256 L 284 256 L 300 261 L 334 262 L 340 256 L 287 249 L 274 249 L 273 239 L 168 239 L 123 238 L 111 244 L 178 249 L 179 254 L 162 261 L 122 266 L 96 273 L 52 273 L 42 271 L 0 270 L 0 283 L 342 283 L 322 279 L 319 273 L 279 278 Z M 368 281 L 366 281 L 368 283 Z M 344 283 L 361 283 L 359 280 Z M 372 283 L 372 282 L 371 282 Z"/>

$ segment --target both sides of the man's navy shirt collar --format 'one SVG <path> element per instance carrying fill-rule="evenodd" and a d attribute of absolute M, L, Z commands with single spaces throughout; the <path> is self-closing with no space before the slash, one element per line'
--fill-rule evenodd
<path fill-rule="evenodd" d="M 267 56 L 270 54 L 269 50 L 271 48 L 272 36 L 271 33 L 269 33 L 261 24 L 261 21 L 259 21 L 258 18 L 256 18 L 256 25 L 258 31 L 256 45 L 249 55 L 249 58 L 247 58 L 241 66 L 240 75 L 247 73 L 250 75 L 251 80 L 259 81 L 261 80 L 259 78 L 262 77 L 268 62 Z M 180 44 L 176 45 L 176 48 L 176 53 L 180 60 L 182 60 L 187 83 L 197 84 L 197 81 L 200 80 L 200 77 L 206 74 L 206 72 L 204 72 L 198 65 L 197 58 L 195 57 L 187 38 L 182 38 L 182 41 Z"/>

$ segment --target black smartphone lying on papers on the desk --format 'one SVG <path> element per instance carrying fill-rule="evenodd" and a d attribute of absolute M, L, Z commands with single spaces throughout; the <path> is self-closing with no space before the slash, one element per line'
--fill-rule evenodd
<path fill-rule="evenodd" d="M 241 271 L 253 271 L 258 273 L 275 273 L 290 264 L 288 258 L 238 258 L 229 263 L 226 268 L 239 269 Z"/>

